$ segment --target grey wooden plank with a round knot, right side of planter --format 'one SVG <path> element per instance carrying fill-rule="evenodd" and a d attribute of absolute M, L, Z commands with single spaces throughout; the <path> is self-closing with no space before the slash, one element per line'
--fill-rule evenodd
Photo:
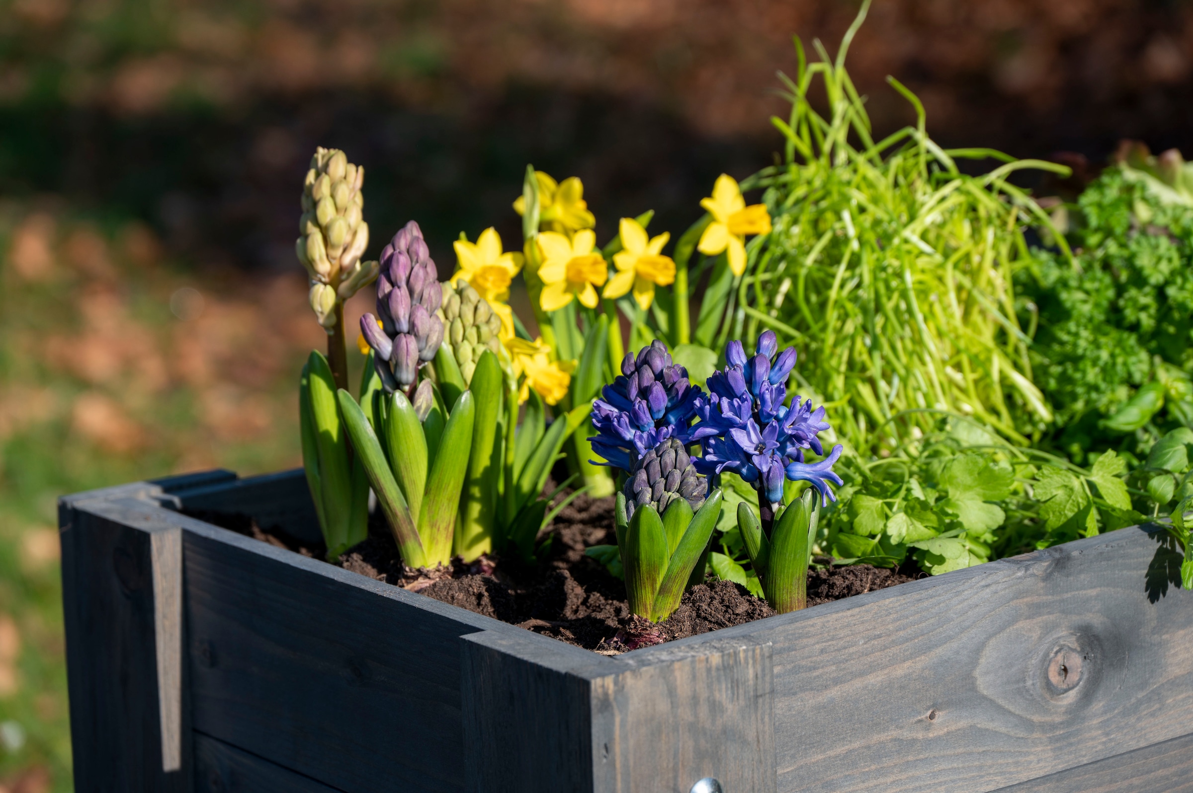
<path fill-rule="evenodd" d="M 991 791 L 1193 731 L 1193 595 L 1149 601 L 1158 547 L 1121 529 L 710 636 L 774 645 L 780 791 Z"/>

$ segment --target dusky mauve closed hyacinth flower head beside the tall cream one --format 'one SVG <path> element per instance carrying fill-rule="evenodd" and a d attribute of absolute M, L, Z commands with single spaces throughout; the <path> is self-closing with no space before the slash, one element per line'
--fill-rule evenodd
<path fill-rule="evenodd" d="M 419 224 L 410 221 L 381 252 L 377 314 L 360 317 L 360 332 L 373 349 L 373 365 L 387 394 L 410 394 L 419 368 L 435 357 L 444 323 L 435 311 L 443 302 L 435 262 Z"/>

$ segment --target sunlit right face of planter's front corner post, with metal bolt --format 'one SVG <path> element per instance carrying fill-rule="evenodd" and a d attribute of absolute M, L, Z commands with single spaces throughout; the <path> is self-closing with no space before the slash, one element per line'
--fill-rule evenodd
<path fill-rule="evenodd" d="M 710 634 L 711 636 L 711 634 Z M 601 793 L 775 793 L 772 648 L 710 638 L 618 659 L 593 681 L 593 749 Z"/>

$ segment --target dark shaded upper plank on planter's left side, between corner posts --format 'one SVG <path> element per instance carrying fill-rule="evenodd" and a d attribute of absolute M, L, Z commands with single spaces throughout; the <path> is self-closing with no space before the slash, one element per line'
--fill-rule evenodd
<path fill-rule="evenodd" d="M 458 639 L 532 634 L 175 519 L 197 730 L 347 793 L 463 789 Z"/>

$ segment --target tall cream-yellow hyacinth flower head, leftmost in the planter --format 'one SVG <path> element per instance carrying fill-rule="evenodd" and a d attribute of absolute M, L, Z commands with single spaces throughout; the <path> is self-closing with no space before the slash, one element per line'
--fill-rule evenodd
<path fill-rule="evenodd" d="M 369 247 L 364 180 L 365 169 L 348 162 L 344 151 L 320 147 L 303 181 L 302 236 L 295 249 L 310 277 L 311 308 L 324 328 L 335 326 L 338 303 L 377 278 L 377 262 L 360 261 Z M 316 290 L 316 284 L 329 289 Z"/>

